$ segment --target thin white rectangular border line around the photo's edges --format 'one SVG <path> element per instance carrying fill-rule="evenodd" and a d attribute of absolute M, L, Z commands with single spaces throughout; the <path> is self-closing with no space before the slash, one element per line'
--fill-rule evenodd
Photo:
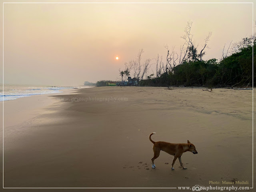
<path fill-rule="evenodd" d="M 3 189 L 176 189 L 177 187 L 4 187 L 4 4 L 252 4 L 252 38 L 254 38 L 253 2 L 3 2 Z M 252 44 L 252 187 L 253 178 L 253 44 Z"/>

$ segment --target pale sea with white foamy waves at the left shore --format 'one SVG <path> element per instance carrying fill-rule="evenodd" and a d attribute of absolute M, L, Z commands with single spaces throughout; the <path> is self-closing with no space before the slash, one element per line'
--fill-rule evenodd
<path fill-rule="evenodd" d="M 84 86 L 34 86 L 34 85 L 13 85 L 5 84 L 0 88 L 0 102 L 6 100 L 14 100 L 21 97 L 29 97 L 33 95 L 60 93 L 64 89 L 78 89 Z"/>

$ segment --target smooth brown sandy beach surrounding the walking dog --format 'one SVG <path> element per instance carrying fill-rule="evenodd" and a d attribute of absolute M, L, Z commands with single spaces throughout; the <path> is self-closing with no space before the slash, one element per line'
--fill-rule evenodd
<path fill-rule="evenodd" d="M 22 103 L 33 107 L 14 116 Z M 4 108 L 4 187 L 252 187 L 252 90 L 95 87 Z M 152 169 L 151 132 L 154 141 L 190 140 L 198 154 L 171 170 L 173 156 L 161 152 Z"/>

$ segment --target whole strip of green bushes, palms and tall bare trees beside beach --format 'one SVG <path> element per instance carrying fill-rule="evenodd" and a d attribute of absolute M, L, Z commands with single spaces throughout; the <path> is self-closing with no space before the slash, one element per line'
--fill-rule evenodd
<path fill-rule="evenodd" d="M 236 43 L 230 42 L 227 47 L 225 44 L 219 60 L 204 60 L 212 33 L 209 32 L 203 46 L 199 48 L 194 42 L 191 28 L 192 22 L 189 21 L 181 37 L 184 44 L 180 46 L 179 52 L 165 46 L 166 60 L 158 55 L 155 59 L 147 58 L 142 64 L 144 51 L 141 49 L 136 59 L 125 63 L 124 70 L 119 70 L 121 80 L 133 74 L 139 82 L 138 86 L 252 86 L 252 55 L 255 66 L 256 35 L 254 38 L 242 38 Z M 152 64 L 156 68 L 149 74 Z"/>

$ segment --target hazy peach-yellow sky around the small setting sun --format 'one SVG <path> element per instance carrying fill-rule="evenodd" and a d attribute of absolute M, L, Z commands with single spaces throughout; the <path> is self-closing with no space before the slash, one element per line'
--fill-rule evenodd
<path fill-rule="evenodd" d="M 219 59 L 252 35 L 252 4 L 4 4 L 4 83 L 116 80 L 140 48 L 142 62 L 178 51 L 188 20 L 199 49 L 212 32 L 203 59 Z"/>

